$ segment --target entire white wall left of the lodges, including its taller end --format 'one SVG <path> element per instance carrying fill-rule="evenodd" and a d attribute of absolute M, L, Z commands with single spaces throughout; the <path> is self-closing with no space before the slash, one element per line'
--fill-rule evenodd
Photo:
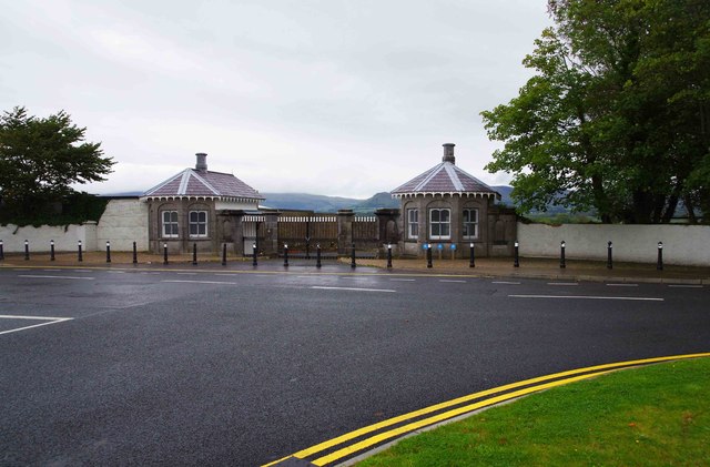
<path fill-rule="evenodd" d="M 57 252 L 77 251 L 80 240 L 85 252 L 104 248 L 106 240 L 111 241 L 113 251 L 131 251 L 133 242 L 136 243 L 139 251 L 146 251 L 148 203 L 138 199 L 111 200 L 99 224 L 87 222 L 82 225 L 42 225 L 41 227 L 0 225 L 0 240 L 7 253 L 24 252 L 26 240 L 29 242 L 30 254 L 49 252 L 52 240 Z"/>

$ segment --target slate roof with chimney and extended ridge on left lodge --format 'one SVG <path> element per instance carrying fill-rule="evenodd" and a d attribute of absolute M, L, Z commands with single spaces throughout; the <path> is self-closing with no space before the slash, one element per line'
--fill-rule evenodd
<path fill-rule="evenodd" d="M 230 173 L 210 172 L 206 154 L 197 153 L 195 169 L 185 169 L 142 194 L 146 199 L 209 197 L 225 201 L 260 201 L 264 196 Z"/>

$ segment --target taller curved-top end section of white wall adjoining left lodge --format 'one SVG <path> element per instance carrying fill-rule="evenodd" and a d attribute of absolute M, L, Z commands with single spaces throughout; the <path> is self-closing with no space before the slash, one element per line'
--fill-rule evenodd
<path fill-rule="evenodd" d="M 97 243 L 101 248 L 106 241 L 116 252 L 148 251 L 148 203 L 138 199 L 111 200 L 97 226 Z"/>

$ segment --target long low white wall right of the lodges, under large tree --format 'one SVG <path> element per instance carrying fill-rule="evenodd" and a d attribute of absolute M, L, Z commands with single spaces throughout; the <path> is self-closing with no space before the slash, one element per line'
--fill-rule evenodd
<path fill-rule="evenodd" d="M 658 242 L 663 242 L 663 263 L 710 266 L 710 226 L 707 225 L 609 225 L 609 224 L 524 224 L 518 222 L 520 255 L 576 260 L 607 258 L 612 242 L 613 261 L 655 263 Z"/>

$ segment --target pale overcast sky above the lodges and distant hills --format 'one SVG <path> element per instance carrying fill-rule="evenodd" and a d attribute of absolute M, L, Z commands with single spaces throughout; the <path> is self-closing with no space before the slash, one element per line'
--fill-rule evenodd
<path fill-rule="evenodd" d="M 0 0 L 0 110 L 67 111 L 143 192 L 207 153 L 262 193 L 366 199 L 442 161 L 484 182 L 545 0 Z"/>

